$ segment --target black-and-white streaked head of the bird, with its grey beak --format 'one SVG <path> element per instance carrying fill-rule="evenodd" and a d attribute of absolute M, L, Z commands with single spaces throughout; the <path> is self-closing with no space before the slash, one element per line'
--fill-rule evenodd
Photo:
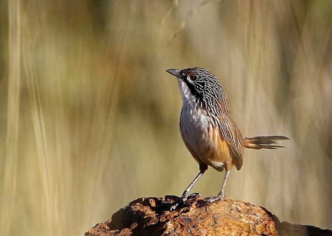
<path fill-rule="evenodd" d="M 226 97 L 217 77 L 206 69 L 192 67 L 166 71 L 178 78 L 184 101 L 191 99 L 207 108 L 209 102 Z"/>

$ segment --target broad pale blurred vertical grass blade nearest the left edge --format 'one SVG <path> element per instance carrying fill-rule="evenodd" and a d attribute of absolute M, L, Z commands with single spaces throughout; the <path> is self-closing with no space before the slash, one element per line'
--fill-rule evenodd
<path fill-rule="evenodd" d="M 21 24 L 20 1 L 8 3 L 9 22 L 9 72 L 7 90 L 7 130 L 5 144 L 5 173 L 2 189 L 0 228 L 8 235 L 17 190 L 18 139 L 20 126 L 20 80 L 21 80 Z"/>

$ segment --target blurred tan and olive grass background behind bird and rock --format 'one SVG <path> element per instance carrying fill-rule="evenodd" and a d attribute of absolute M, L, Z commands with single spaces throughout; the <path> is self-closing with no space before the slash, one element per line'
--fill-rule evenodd
<path fill-rule="evenodd" d="M 2 235 L 83 235 L 198 173 L 167 68 L 223 84 L 246 150 L 226 197 L 332 228 L 332 1 L 0 2 Z M 194 191 L 215 195 L 209 169 Z"/>

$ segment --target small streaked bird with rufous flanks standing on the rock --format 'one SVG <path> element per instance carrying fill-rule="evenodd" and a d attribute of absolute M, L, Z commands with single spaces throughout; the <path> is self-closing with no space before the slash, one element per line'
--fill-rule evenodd
<path fill-rule="evenodd" d="M 225 197 L 225 186 L 232 166 L 240 170 L 243 164 L 244 148 L 284 148 L 277 141 L 288 140 L 285 136 L 257 136 L 244 138 L 230 114 L 226 94 L 218 78 L 200 67 L 167 69 L 166 72 L 178 80 L 182 96 L 180 115 L 181 137 L 198 162 L 200 172 L 184 190 L 181 202 L 189 197 L 194 184 L 205 173 L 208 166 L 225 171 L 221 190 L 211 197 L 213 202 Z M 176 209 L 178 204 L 171 207 Z"/>

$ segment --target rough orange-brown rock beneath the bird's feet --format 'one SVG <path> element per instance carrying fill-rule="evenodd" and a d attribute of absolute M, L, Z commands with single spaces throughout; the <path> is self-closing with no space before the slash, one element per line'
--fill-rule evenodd
<path fill-rule="evenodd" d="M 115 212 L 111 219 L 99 223 L 84 236 L 113 235 L 279 235 L 332 236 L 331 230 L 314 226 L 280 223 L 263 207 L 231 199 L 207 202 L 194 196 L 175 211 L 177 196 L 138 198 Z"/>

